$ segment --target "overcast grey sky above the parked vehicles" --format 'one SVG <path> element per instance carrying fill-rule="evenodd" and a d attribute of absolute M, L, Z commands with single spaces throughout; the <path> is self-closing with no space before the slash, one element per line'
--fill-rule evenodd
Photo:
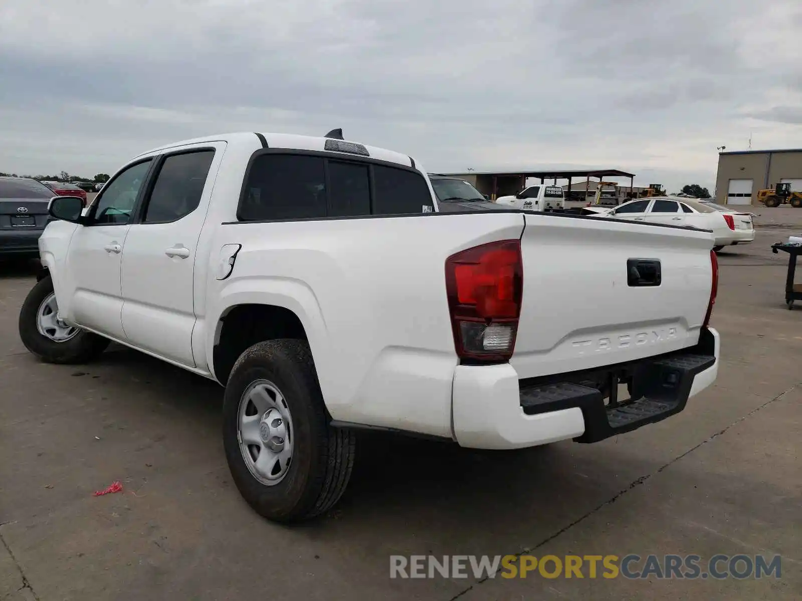
<path fill-rule="evenodd" d="M 429 171 L 713 192 L 717 146 L 802 147 L 800 31 L 799 0 L 2 0 L 0 171 L 342 127 Z"/>

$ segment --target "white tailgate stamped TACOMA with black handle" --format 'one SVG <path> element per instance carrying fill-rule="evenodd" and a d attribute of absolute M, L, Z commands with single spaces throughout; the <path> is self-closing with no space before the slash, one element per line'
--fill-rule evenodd
<path fill-rule="evenodd" d="M 532 214 L 525 223 L 523 305 L 510 361 L 519 377 L 634 361 L 699 341 L 711 233 Z"/>

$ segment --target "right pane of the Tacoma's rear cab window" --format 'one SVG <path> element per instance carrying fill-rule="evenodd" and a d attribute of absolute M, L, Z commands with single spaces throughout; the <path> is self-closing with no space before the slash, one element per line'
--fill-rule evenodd
<path fill-rule="evenodd" d="M 435 201 L 426 179 L 415 171 L 374 165 L 373 187 L 374 215 L 408 215 L 434 210 Z"/>

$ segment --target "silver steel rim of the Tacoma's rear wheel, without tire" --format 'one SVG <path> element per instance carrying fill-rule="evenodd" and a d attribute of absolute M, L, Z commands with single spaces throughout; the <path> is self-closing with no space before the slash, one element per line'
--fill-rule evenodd
<path fill-rule="evenodd" d="M 237 411 L 237 440 L 253 478 L 266 486 L 281 482 L 293 459 L 290 407 L 273 382 L 251 383 Z"/>

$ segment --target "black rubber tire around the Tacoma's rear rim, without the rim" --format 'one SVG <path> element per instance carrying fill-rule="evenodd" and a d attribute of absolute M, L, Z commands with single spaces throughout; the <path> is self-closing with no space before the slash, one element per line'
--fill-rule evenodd
<path fill-rule="evenodd" d="M 251 473 L 240 447 L 240 402 L 258 380 L 286 400 L 294 440 L 286 475 L 267 485 Z M 329 510 L 346 490 L 356 436 L 332 428 L 306 341 L 259 342 L 242 353 L 225 386 L 223 444 L 234 483 L 250 506 L 275 522 L 299 522 Z"/>

